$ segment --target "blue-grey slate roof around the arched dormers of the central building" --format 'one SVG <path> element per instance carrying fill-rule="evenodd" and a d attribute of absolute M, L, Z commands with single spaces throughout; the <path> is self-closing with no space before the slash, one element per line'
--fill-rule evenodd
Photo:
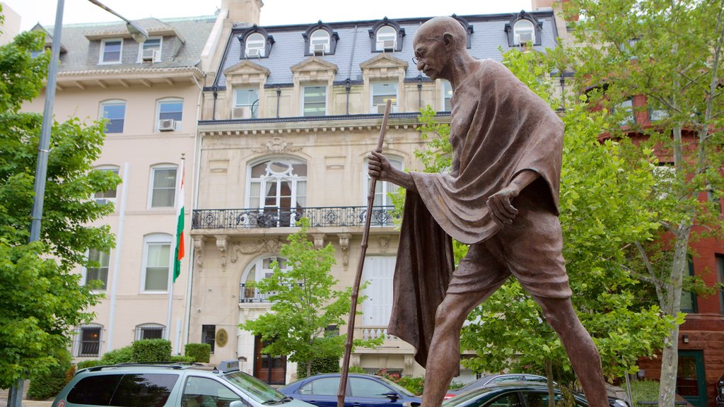
<path fill-rule="evenodd" d="M 468 49 L 471 55 L 478 59 L 495 59 L 500 61 L 502 54 L 498 47 L 502 47 L 503 51 L 508 51 L 508 34 L 505 33 L 505 24 L 510 22 L 511 18 L 518 13 L 510 14 L 479 14 L 458 16 L 467 20 L 468 24 L 473 27 L 471 34 L 471 48 Z M 545 48 L 552 48 L 556 45 L 557 30 L 555 27 L 555 17 L 553 12 L 531 12 L 529 13 L 542 22 L 541 45 L 534 46 L 534 49 L 543 51 Z M 408 68 L 405 78 L 413 80 L 421 72 L 419 72 L 412 62 L 413 49 L 412 40 L 418 27 L 429 20 L 430 17 L 410 18 L 395 20 L 400 28 L 405 30 L 403 38 L 402 51 L 392 52 L 392 56 L 408 62 Z M 327 62 L 337 65 L 337 75 L 334 77 L 335 82 L 341 82 L 349 78 L 352 81 L 362 80 L 362 70 L 360 64 L 374 56 L 379 52 L 371 51 L 371 43 L 374 41 L 370 38 L 369 30 L 380 20 L 366 20 L 356 22 L 324 22 L 329 25 L 334 32 L 340 36 L 337 41 L 337 49 L 334 55 L 318 56 Z M 261 65 L 269 69 L 270 74 L 266 81 L 266 86 L 275 85 L 291 85 L 293 74 L 290 67 L 308 59 L 305 56 L 305 42 L 302 34 L 314 24 L 308 25 L 277 25 L 264 26 L 263 28 L 274 38 L 274 45 L 271 48 L 269 57 L 267 58 L 250 58 L 251 62 Z M 253 28 L 241 27 L 232 30 L 228 41 L 228 52 L 226 58 L 219 67 L 216 75 L 216 86 L 224 88 L 226 86 L 226 77 L 223 71 L 228 67 L 232 67 L 242 60 L 243 54 L 240 41 L 237 39 L 239 35 L 243 35 L 246 30 Z M 424 76 L 424 75 L 423 75 Z M 424 76 L 427 80 L 427 77 Z"/>

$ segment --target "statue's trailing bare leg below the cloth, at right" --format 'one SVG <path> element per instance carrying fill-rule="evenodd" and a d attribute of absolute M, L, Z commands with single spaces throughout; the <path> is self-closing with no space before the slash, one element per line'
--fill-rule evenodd
<path fill-rule="evenodd" d="M 571 298 L 544 298 L 534 295 L 545 319 L 560 337 L 573 370 L 584 387 L 591 407 L 607 407 L 601 357 L 586 328 L 573 310 Z"/>

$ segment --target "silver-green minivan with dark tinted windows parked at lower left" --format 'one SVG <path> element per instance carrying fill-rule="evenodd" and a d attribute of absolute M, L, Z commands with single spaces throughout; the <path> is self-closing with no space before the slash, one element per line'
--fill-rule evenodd
<path fill-rule="evenodd" d="M 238 370 L 200 364 L 116 364 L 79 370 L 52 407 L 311 407 Z"/>

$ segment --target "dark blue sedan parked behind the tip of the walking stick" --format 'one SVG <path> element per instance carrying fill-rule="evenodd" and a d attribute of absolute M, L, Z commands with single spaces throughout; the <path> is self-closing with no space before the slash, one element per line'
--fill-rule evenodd
<path fill-rule="evenodd" d="M 279 389 L 284 395 L 319 407 L 336 407 L 340 374 L 317 374 Z M 421 398 L 384 377 L 350 374 L 347 379 L 345 407 L 416 407 Z"/>

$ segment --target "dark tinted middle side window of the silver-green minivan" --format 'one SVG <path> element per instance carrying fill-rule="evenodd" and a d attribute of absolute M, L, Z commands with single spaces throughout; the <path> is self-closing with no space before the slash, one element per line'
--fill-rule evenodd
<path fill-rule="evenodd" d="M 177 374 L 124 374 L 109 406 L 164 406 L 177 379 Z"/>

